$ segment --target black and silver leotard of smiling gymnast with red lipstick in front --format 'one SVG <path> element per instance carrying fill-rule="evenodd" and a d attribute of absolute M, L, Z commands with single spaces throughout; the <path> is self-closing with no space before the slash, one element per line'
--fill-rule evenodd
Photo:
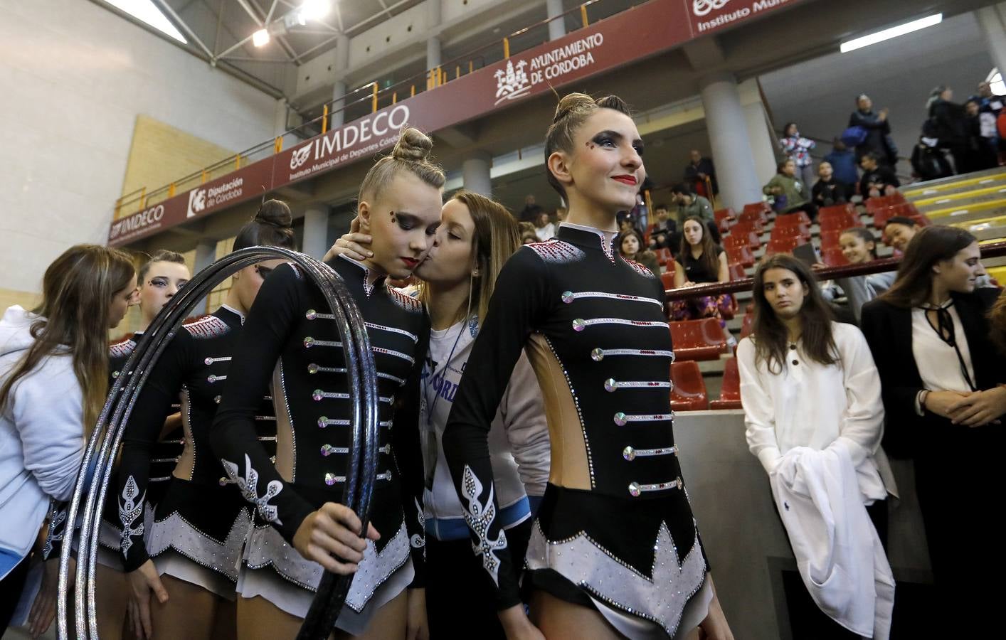
<path fill-rule="evenodd" d="M 496 520 L 486 439 L 525 350 L 552 452 L 525 583 L 597 608 L 631 638 L 675 637 L 705 616 L 707 565 L 674 444 L 663 287 L 613 236 L 563 223 L 503 267 L 444 450 L 497 606 L 516 605 L 521 558 Z"/>

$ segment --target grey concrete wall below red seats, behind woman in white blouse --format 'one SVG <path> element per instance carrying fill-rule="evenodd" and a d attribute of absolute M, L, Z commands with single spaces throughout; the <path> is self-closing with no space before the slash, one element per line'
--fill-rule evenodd
<path fill-rule="evenodd" d="M 723 612 L 737 638 L 789 640 L 781 570 L 796 570 L 769 478 L 747 450 L 743 412 L 679 413 L 674 442 Z M 910 464 L 892 464 L 888 558 L 897 581 L 932 582 Z"/>

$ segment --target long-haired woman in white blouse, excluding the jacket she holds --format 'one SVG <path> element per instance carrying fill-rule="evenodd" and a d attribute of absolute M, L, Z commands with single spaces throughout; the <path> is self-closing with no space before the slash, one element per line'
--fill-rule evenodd
<path fill-rule="evenodd" d="M 754 326 L 737 346 L 747 445 L 767 473 L 795 447 L 844 448 L 886 540 L 893 477 L 880 438 L 880 380 L 863 334 L 831 320 L 814 275 L 788 255 L 754 274 Z"/>

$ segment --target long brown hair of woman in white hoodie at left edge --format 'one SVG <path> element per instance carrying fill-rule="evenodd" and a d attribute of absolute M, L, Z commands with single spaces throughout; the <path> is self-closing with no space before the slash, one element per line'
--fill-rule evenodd
<path fill-rule="evenodd" d="M 76 245 L 56 258 L 42 278 L 42 302 L 32 310 L 34 343 L 0 386 L 0 409 L 14 384 L 49 355 L 68 347 L 83 396 L 83 431 L 98 422 L 109 392 L 109 306 L 136 270 L 129 254 L 98 245 Z"/>

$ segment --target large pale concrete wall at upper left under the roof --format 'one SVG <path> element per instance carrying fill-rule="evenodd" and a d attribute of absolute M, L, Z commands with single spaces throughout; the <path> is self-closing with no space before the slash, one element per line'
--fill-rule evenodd
<path fill-rule="evenodd" d="M 0 290 L 40 289 L 76 243 L 104 243 L 145 114 L 226 149 L 273 135 L 276 101 L 80 0 L 4 2 Z"/>

